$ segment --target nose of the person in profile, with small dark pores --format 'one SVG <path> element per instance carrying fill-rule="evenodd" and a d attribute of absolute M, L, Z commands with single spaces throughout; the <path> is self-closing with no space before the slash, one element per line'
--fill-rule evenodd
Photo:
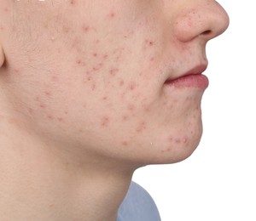
<path fill-rule="evenodd" d="M 228 28 L 229 16 L 217 2 L 213 0 L 181 2 L 186 2 L 186 6 L 175 15 L 172 23 L 174 35 L 179 41 L 188 42 L 199 37 L 207 42 Z"/>

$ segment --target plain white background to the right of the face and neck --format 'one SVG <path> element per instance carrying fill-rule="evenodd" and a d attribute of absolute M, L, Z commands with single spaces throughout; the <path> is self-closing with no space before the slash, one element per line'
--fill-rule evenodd
<path fill-rule="evenodd" d="M 254 2 L 219 1 L 230 14 L 230 27 L 207 45 L 210 86 L 198 149 L 185 161 L 134 174 L 153 196 L 162 221 L 256 220 Z"/>

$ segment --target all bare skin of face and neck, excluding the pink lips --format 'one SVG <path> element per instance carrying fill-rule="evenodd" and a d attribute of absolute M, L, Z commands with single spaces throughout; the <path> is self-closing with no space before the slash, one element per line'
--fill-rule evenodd
<path fill-rule="evenodd" d="M 138 167 L 190 156 L 204 89 L 165 82 L 228 23 L 212 0 L 1 1 L 2 217 L 113 221 Z"/>

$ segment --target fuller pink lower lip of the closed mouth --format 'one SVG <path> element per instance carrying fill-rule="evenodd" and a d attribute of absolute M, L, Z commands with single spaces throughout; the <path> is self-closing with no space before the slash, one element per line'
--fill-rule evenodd
<path fill-rule="evenodd" d="M 195 74 L 178 77 L 172 81 L 166 81 L 166 85 L 175 88 L 199 88 L 206 89 L 209 85 L 208 78 L 205 75 Z"/>

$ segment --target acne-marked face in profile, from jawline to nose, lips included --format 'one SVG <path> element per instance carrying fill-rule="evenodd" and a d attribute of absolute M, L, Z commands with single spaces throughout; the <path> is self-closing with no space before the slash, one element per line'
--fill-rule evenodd
<path fill-rule="evenodd" d="M 181 161 L 201 139 L 212 0 L 6 3 L 3 49 L 30 133 L 83 157 Z"/>

